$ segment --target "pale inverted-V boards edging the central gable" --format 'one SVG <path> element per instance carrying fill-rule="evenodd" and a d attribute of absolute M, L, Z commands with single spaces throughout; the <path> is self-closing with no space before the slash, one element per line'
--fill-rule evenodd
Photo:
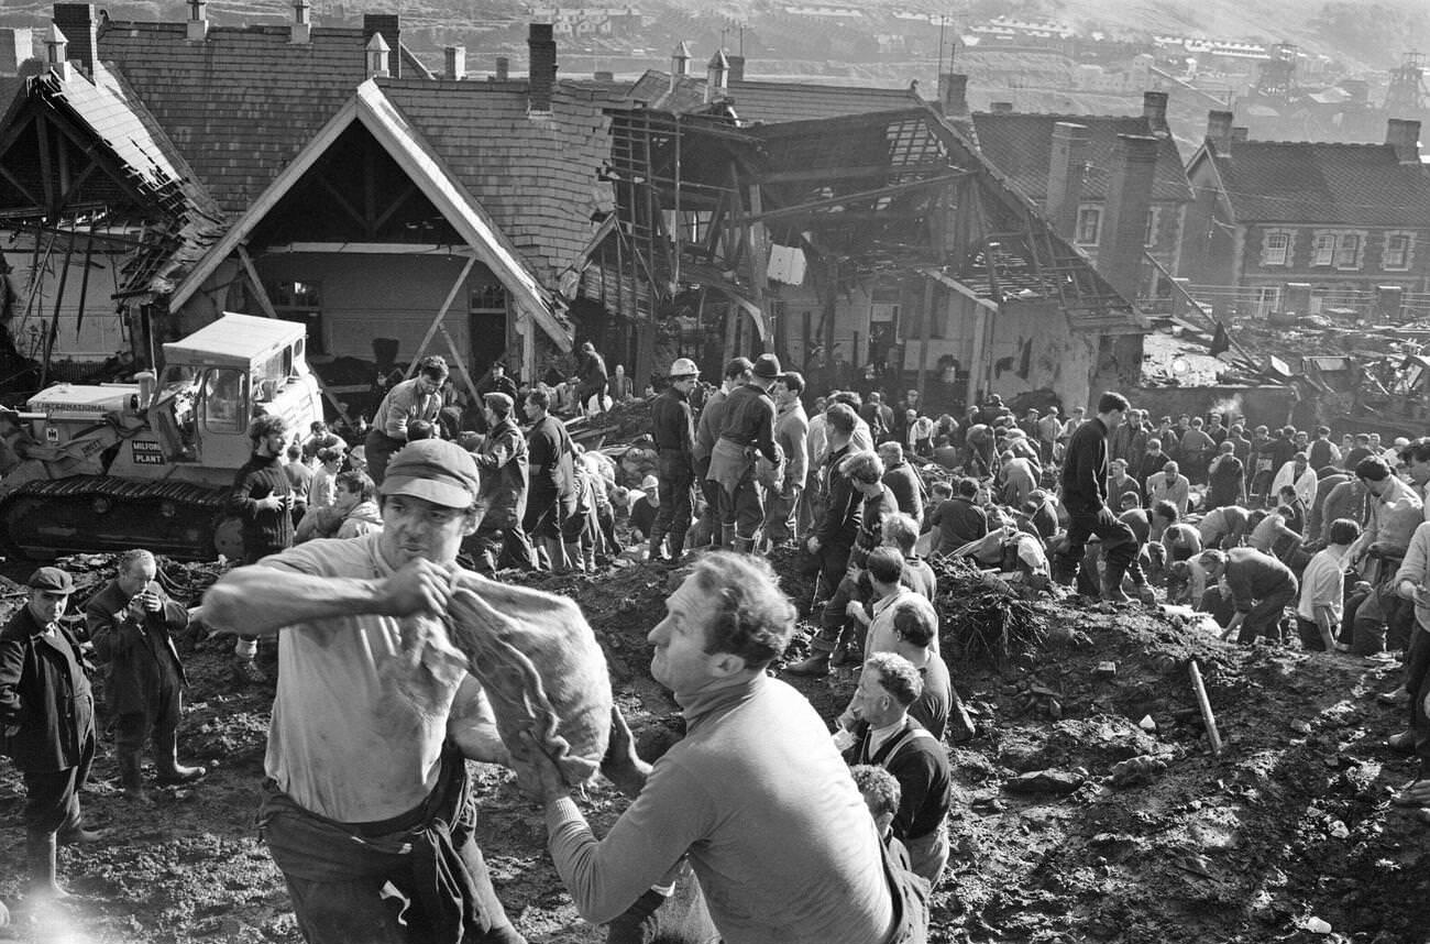
<path fill-rule="evenodd" d="M 378 83 L 358 86 L 326 126 L 279 173 L 247 212 L 225 233 L 223 239 L 194 266 L 170 296 L 170 306 L 183 305 L 199 286 L 227 259 L 253 229 L 277 206 L 309 169 L 327 152 L 353 122 L 360 122 L 386 149 L 399 167 L 432 200 L 443 217 L 466 240 L 478 260 L 486 265 L 511 292 L 521 313 L 536 320 L 562 350 L 572 338 L 552 312 L 551 302 L 518 250 L 500 233 L 476 200 L 456 182 L 440 157 L 422 140 L 420 133 L 388 100 Z"/>

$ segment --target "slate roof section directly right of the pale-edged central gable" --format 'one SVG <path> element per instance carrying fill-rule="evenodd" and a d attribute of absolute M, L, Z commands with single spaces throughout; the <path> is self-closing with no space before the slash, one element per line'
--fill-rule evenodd
<path fill-rule="evenodd" d="M 576 262 L 613 206 L 598 173 L 611 156 L 603 109 L 615 87 L 558 82 L 551 117 L 526 112 L 525 82 L 415 82 L 378 86 L 446 162 L 548 286 Z"/>

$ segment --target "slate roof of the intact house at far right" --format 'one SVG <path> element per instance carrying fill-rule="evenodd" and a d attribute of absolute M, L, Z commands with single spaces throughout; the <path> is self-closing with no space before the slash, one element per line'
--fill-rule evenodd
<path fill-rule="evenodd" d="M 1390 144 L 1237 142 L 1207 154 L 1238 223 L 1430 225 L 1430 169 L 1401 164 Z"/>

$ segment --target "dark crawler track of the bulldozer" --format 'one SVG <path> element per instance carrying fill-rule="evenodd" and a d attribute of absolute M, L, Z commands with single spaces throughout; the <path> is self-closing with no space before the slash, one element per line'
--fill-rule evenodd
<path fill-rule="evenodd" d="M 11 554 L 53 558 L 146 548 L 177 559 L 217 554 L 227 488 L 103 475 L 27 482 L 0 501 Z"/>

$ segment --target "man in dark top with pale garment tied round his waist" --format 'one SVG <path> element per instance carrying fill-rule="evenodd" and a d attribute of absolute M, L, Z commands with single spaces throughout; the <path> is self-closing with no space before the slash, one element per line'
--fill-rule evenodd
<path fill-rule="evenodd" d="M 765 523 L 764 488 L 755 475 L 755 456 L 764 456 L 772 466 L 784 462 L 775 443 L 775 402 L 769 396 L 779 373 L 775 355 L 759 355 L 751 379 L 731 390 L 705 476 L 721 486 L 721 545 L 728 544 L 744 554 L 755 549 L 755 534 Z"/>

